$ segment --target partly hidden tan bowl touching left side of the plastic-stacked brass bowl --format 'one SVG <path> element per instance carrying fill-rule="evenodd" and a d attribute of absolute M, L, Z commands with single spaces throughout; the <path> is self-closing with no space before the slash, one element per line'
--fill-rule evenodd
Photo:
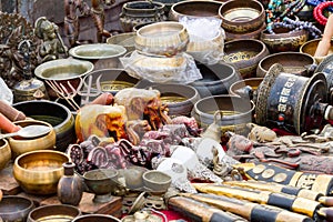
<path fill-rule="evenodd" d="M 107 39 L 108 44 L 119 44 L 127 49 L 127 52 L 131 52 L 135 50 L 134 39 L 137 37 L 137 32 L 125 32 L 114 34 Z"/>

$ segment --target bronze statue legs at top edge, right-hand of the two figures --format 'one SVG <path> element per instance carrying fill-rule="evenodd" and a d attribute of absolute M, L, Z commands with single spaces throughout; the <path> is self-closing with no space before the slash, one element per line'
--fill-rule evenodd
<path fill-rule="evenodd" d="M 102 42 L 103 37 L 109 38 L 111 33 L 104 29 L 105 23 L 105 14 L 104 14 L 104 7 L 111 6 L 114 3 L 114 0 L 91 0 L 91 16 L 93 19 L 93 23 L 97 28 L 97 41 Z"/>

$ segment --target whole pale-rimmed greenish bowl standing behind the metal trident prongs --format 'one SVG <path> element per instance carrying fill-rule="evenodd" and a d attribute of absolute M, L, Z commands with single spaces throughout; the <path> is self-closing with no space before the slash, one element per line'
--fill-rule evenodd
<path fill-rule="evenodd" d="M 68 58 L 41 63 L 34 69 L 34 74 L 42 81 L 54 80 L 58 83 L 62 83 L 68 88 L 68 91 L 71 92 L 71 89 L 68 87 L 68 81 L 77 89 L 80 83 L 80 78 L 83 78 L 92 70 L 93 63 Z M 50 99 L 57 99 L 58 94 L 48 84 L 46 84 L 46 87 Z"/>

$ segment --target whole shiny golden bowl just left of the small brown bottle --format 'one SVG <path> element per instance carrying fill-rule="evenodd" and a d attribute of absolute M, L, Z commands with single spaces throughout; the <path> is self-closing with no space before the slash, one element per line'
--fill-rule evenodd
<path fill-rule="evenodd" d="M 54 194 L 64 162 L 70 162 L 70 158 L 60 151 L 30 151 L 14 160 L 13 176 L 26 193 Z"/>

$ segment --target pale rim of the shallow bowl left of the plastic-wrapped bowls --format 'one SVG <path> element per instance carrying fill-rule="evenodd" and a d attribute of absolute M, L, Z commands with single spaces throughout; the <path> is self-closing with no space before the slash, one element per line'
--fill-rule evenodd
<path fill-rule="evenodd" d="M 117 51 L 117 53 L 112 54 L 112 56 L 100 56 L 100 57 L 92 57 L 92 56 L 80 56 L 78 54 L 78 50 L 80 49 L 103 49 L 103 50 L 108 50 L 108 49 L 113 49 L 114 51 Z M 69 54 L 72 56 L 75 59 L 81 59 L 81 60 L 100 60 L 100 59 L 111 59 L 111 58 L 119 58 L 121 56 L 123 56 L 128 50 L 120 44 L 111 44 L 111 43 L 90 43 L 90 44 L 81 44 L 81 46 L 77 46 L 73 47 L 69 50 Z"/>

